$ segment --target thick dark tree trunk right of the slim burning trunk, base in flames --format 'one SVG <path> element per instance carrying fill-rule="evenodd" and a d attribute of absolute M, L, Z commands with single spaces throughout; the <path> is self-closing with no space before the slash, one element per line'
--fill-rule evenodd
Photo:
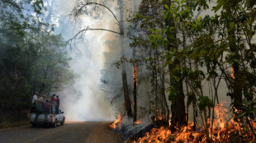
<path fill-rule="evenodd" d="M 166 0 L 165 3 L 168 6 L 171 6 L 172 1 Z M 165 8 L 165 7 L 164 7 Z M 165 20 L 165 25 L 169 27 L 175 27 L 175 24 L 173 22 L 173 17 L 171 17 L 169 20 Z M 167 39 L 169 41 L 167 49 L 170 50 L 172 48 L 178 49 L 177 44 L 177 34 L 176 30 L 174 29 L 172 36 L 168 36 Z M 173 67 L 180 66 L 180 61 L 174 60 L 173 64 L 168 64 L 169 70 L 171 70 Z M 186 124 L 186 111 L 185 111 L 185 104 L 184 104 L 184 93 L 183 93 L 183 80 L 181 71 L 175 71 L 174 76 L 177 76 L 179 78 L 179 81 L 177 81 L 173 86 L 176 91 L 178 91 L 178 95 L 175 96 L 172 100 L 171 105 L 171 129 L 174 130 L 174 127 L 176 126 L 182 126 Z"/>

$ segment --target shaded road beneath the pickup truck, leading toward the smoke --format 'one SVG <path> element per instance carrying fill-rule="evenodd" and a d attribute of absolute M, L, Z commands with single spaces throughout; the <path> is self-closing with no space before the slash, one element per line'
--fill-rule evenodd
<path fill-rule="evenodd" d="M 7 142 L 85 142 L 121 143 L 121 136 L 112 131 L 111 122 L 65 122 L 64 126 L 17 127 L 0 131 L 0 143 Z"/>

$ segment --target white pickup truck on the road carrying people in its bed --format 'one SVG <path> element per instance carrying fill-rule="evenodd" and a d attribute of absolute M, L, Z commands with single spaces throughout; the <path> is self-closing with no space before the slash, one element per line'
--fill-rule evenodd
<path fill-rule="evenodd" d="M 45 118 L 46 116 L 46 118 Z M 44 124 L 44 125 L 50 125 L 51 127 L 57 127 L 57 124 L 60 123 L 60 125 L 64 125 L 65 122 L 65 116 L 64 112 L 61 112 L 59 110 L 59 113 L 40 113 L 36 122 L 36 113 L 31 113 L 30 122 L 32 124 L 32 127 L 36 127 L 37 124 Z"/>

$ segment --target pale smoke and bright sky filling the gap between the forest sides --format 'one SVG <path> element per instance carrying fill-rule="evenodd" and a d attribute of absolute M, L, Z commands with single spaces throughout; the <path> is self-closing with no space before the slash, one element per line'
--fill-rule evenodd
<path fill-rule="evenodd" d="M 70 21 L 69 14 L 73 10 L 76 0 L 45 0 L 47 12 L 45 21 L 55 24 L 55 33 L 70 39 L 78 30 L 90 26 L 119 32 L 119 27 L 110 12 L 102 12 L 99 19 L 83 15 L 80 21 Z M 117 1 L 104 0 L 107 7 L 116 14 L 119 19 Z M 135 1 L 136 4 L 140 1 Z M 134 3 L 131 0 L 124 1 L 124 9 L 132 9 Z M 127 13 L 124 14 L 128 16 Z M 127 28 L 127 25 L 125 25 Z M 121 57 L 121 44 L 119 35 L 107 31 L 87 31 L 83 39 L 77 40 L 76 50 L 69 50 L 73 58 L 69 65 L 78 76 L 71 85 L 67 85 L 64 91 L 57 93 L 62 109 L 68 120 L 73 121 L 99 121 L 113 120 L 116 111 L 113 107 L 123 106 L 121 91 L 121 71 L 111 64 Z M 128 47 L 129 40 L 125 39 L 126 57 L 131 57 Z M 132 68 L 126 67 L 128 82 L 132 80 Z M 103 73 L 103 74 L 102 74 Z M 130 77 L 131 76 L 131 77 Z M 102 86 L 101 79 L 107 81 Z M 132 82 L 132 81 L 130 81 Z M 129 83 L 128 83 L 129 85 Z M 102 89 L 103 88 L 103 89 Z M 110 105 L 111 99 L 118 99 L 116 105 Z"/>

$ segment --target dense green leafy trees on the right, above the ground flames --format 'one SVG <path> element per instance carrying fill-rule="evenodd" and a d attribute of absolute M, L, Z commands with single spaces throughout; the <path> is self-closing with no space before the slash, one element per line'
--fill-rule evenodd
<path fill-rule="evenodd" d="M 138 50 L 138 60 L 151 73 L 154 90 L 149 98 L 154 99 L 155 122 L 168 122 L 169 101 L 171 131 L 177 127 L 182 131 L 180 128 L 188 126 L 189 121 L 195 131 L 200 118 L 207 142 L 254 140 L 254 1 L 145 0 L 130 22 L 130 29 L 137 32 L 130 46 Z M 224 88 L 225 92 L 221 90 Z M 164 91 L 168 91 L 168 101 Z M 235 122 L 246 128 L 230 133 L 235 136 L 231 139 L 215 135 L 221 128 L 214 125 L 220 118 L 215 109 L 222 106 L 223 96 L 231 99 L 225 112 L 233 112 Z M 179 139 L 173 136 L 165 140 Z"/>

